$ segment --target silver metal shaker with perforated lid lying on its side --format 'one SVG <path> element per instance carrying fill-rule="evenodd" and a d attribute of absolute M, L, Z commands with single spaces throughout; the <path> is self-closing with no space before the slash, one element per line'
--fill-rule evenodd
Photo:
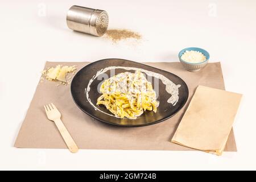
<path fill-rule="evenodd" d="M 102 36 L 108 29 L 109 17 L 104 10 L 72 6 L 67 13 L 70 29 L 95 36 Z"/>

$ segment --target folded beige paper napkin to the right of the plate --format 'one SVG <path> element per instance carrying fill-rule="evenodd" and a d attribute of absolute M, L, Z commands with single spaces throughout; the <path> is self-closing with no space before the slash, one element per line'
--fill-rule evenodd
<path fill-rule="evenodd" d="M 221 155 L 242 94 L 199 85 L 171 142 Z"/>

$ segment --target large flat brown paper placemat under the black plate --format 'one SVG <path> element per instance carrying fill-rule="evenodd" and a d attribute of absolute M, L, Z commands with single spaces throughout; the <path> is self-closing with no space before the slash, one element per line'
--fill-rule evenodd
<path fill-rule="evenodd" d="M 81 69 L 88 62 L 47 62 L 45 68 L 62 65 L 77 65 Z M 61 112 L 61 119 L 79 148 L 115 150 L 193 150 L 170 140 L 198 85 L 225 89 L 220 63 L 209 63 L 199 72 L 186 71 L 180 63 L 144 63 L 164 69 L 181 77 L 189 89 L 185 106 L 172 118 L 156 125 L 145 127 L 116 127 L 96 121 L 82 112 L 73 102 L 70 85 L 56 86 L 55 82 L 39 82 L 20 127 L 15 147 L 22 148 L 67 148 L 55 124 L 48 121 L 43 105 L 53 102 Z M 43 69 L 43 68 L 42 68 Z M 233 130 L 230 132 L 226 151 L 236 151 Z"/>

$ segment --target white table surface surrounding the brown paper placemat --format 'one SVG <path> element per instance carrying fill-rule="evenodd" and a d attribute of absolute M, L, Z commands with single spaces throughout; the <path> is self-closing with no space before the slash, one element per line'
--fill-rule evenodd
<path fill-rule="evenodd" d="M 104 9 L 110 28 L 143 40 L 112 44 L 73 32 L 72 5 Z M 256 1 L 7 1 L 0 2 L 0 169 L 256 169 Z M 201 47 L 221 61 L 226 90 L 242 93 L 234 123 L 238 152 L 19 149 L 13 147 L 46 61 L 178 61 Z"/>

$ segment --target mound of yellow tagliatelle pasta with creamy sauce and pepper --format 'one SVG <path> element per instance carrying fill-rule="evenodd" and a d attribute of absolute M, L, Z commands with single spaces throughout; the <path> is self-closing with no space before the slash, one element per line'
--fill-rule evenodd
<path fill-rule="evenodd" d="M 159 102 L 151 82 L 139 70 L 119 73 L 105 80 L 97 105 L 105 105 L 116 117 L 135 119 L 146 110 L 156 112 Z"/>

